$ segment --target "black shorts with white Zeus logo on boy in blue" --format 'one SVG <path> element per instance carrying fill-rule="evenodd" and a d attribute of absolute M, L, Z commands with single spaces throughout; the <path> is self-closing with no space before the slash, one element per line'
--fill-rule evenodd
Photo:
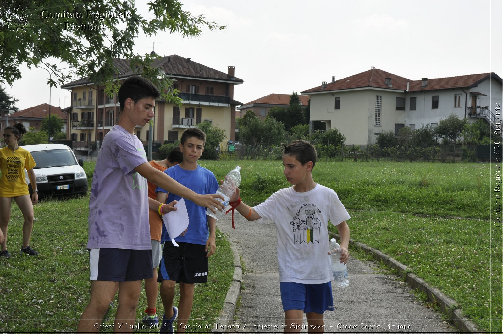
<path fill-rule="evenodd" d="M 189 242 L 164 242 L 157 282 L 172 280 L 177 283 L 208 282 L 208 258 L 206 245 Z"/>

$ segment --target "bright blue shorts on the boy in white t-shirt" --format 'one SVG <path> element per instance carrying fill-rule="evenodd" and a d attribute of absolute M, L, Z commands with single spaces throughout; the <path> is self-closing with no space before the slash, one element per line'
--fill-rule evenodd
<path fill-rule="evenodd" d="M 302 310 L 322 314 L 333 311 L 332 283 L 302 284 L 281 282 L 283 311 Z"/>

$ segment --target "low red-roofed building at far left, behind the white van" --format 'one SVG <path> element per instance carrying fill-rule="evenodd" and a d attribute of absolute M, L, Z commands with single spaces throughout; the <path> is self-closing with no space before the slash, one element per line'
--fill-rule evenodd
<path fill-rule="evenodd" d="M 40 129 L 42 124 L 42 119 L 49 116 L 49 105 L 47 103 L 42 103 L 35 107 L 26 108 L 19 110 L 12 115 L 5 115 L 6 111 L 2 111 L 0 115 L 0 131 L 4 131 L 7 126 L 12 126 L 16 123 L 23 123 L 26 130 L 30 127 L 34 127 L 35 130 Z M 63 122 L 64 126 L 61 131 L 66 132 L 67 128 L 67 114 L 61 111 L 61 108 L 51 106 L 51 115 L 59 116 Z M 9 125 L 6 126 L 6 121 Z"/>

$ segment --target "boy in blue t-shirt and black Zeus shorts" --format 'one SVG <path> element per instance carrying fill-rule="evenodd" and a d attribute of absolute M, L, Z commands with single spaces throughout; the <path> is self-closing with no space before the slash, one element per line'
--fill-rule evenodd
<path fill-rule="evenodd" d="M 184 159 L 182 163 L 164 171 L 180 184 L 197 194 L 215 194 L 218 182 L 212 172 L 201 167 L 197 161 L 201 157 L 206 141 L 206 134 L 198 128 L 184 131 L 180 140 L 180 150 Z M 157 201 L 165 203 L 180 200 L 180 196 L 157 187 Z M 164 242 L 162 259 L 159 266 L 157 282 L 160 283 L 160 296 L 164 305 L 161 333 L 173 333 L 173 321 L 178 320 L 177 332 L 185 332 L 192 311 L 194 284 L 208 281 L 208 257 L 215 253 L 215 219 L 206 215 L 206 208 L 185 200 L 189 214 L 189 229 L 175 241 L 174 246 L 162 225 L 161 242 Z M 175 284 L 180 284 L 180 302 L 178 308 L 173 306 Z"/>

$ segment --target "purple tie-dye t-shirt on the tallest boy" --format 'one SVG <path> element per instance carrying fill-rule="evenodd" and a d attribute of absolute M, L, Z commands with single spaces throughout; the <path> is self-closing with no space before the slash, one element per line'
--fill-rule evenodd
<path fill-rule="evenodd" d="M 103 140 L 89 200 L 88 248 L 150 249 L 147 162 L 142 142 L 116 125 Z"/>

